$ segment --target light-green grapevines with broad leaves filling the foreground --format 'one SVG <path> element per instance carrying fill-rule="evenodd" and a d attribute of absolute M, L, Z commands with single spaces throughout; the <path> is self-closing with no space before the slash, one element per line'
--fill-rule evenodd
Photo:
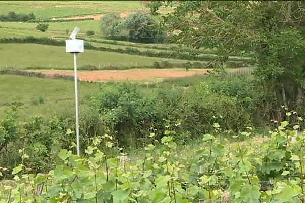
<path fill-rule="evenodd" d="M 6 194 L 0 202 L 304 202 L 305 136 L 292 139 L 298 125 L 281 122 L 263 143 L 245 144 L 218 136 L 215 123 L 215 133 L 205 134 L 186 161 L 174 127 L 167 125 L 159 141 L 151 132 L 145 157 L 134 163 L 124 153 L 111 155 L 116 144 L 106 134 L 81 157 L 63 149 L 61 163 L 46 174 L 31 174 L 20 164 L 12 172 L 14 184 L 0 189 Z M 249 137 L 251 130 L 235 137 Z M 104 144 L 109 150 L 100 150 Z"/>

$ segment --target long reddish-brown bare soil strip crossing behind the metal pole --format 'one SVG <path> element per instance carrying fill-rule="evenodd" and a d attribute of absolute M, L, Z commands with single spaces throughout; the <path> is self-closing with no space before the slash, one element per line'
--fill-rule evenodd
<path fill-rule="evenodd" d="M 55 74 L 64 76 L 73 76 L 73 71 L 59 70 L 40 70 L 46 76 L 53 77 Z M 206 74 L 204 69 L 193 69 L 186 71 L 185 69 L 130 69 L 130 70 L 103 70 L 103 71 L 79 71 L 78 78 L 82 81 L 101 81 L 107 82 L 111 80 L 121 81 L 151 81 L 152 79 L 179 78 L 193 75 Z"/>

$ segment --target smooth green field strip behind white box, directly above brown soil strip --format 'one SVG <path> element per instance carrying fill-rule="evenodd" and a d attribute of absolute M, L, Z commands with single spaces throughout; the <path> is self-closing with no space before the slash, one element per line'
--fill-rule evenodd
<path fill-rule="evenodd" d="M 78 66 L 92 64 L 96 66 L 111 65 L 151 65 L 162 58 L 128 55 L 115 52 L 85 50 L 78 56 Z M 169 62 L 186 62 L 184 60 L 168 60 Z M 65 47 L 38 44 L 0 44 L 0 69 L 15 67 L 54 67 L 71 68 L 73 57 L 65 52 Z"/>

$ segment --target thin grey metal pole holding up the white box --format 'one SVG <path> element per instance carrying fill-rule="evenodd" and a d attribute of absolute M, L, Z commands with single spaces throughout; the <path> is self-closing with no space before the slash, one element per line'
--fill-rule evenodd
<path fill-rule="evenodd" d="M 79 122 L 78 122 L 78 89 L 77 89 L 77 53 L 73 53 L 74 58 L 74 87 L 75 87 L 75 124 L 76 124 L 76 147 L 77 155 L 80 156 L 79 149 Z"/>

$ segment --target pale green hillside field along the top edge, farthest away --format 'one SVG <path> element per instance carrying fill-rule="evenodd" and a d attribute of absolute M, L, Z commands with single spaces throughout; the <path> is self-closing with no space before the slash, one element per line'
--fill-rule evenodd
<path fill-rule="evenodd" d="M 39 19 L 103 14 L 110 11 L 148 11 L 140 1 L 1 1 L 0 13 L 34 13 Z"/>

